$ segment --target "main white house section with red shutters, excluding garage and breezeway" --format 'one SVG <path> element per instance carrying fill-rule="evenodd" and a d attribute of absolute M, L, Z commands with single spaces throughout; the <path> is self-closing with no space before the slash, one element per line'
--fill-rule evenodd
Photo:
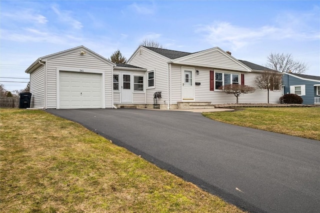
<path fill-rule="evenodd" d="M 237 60 L 219 47 L 189 53 L 139 46 L 127 63 L 146 68 L 146 104 L 149 107 L 153 93 L 161 91 L 160 108 L 177 108 L 181 102 L 235 103 L 234 95 L 225 94 L 218 87 L 230 83 L 256 87 L 256 76 L 269 70 Z M 280 96 L 280 90 L 270 91 L 269 102 L 279 103 Z M 267 91 L 257 89 L 240 95 L 239 102 L 266 103 Z"/>

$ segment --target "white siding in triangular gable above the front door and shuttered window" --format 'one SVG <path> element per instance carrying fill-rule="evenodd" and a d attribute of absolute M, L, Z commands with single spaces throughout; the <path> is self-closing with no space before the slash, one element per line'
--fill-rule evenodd
<path fill-rule="evenodd" d="M 191 63 L 194 65 L 205 64 L 205 66 L 207 67 L 218 67 L 238 71 L 247 71 L 243 66 L 239 65 L 238 63 L 236 63 L 229 57 L 225 56 L 218 50 L 180 61 Z"/>

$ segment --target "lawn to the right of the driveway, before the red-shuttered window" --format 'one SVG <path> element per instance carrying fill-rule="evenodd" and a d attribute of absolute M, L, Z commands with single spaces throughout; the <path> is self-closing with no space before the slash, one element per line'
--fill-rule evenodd
<path fill-rule="evenodd" d="M 204 116 L 240 126 L 320 140 L 320 107 L 247 107 L 204 112 Z"/>

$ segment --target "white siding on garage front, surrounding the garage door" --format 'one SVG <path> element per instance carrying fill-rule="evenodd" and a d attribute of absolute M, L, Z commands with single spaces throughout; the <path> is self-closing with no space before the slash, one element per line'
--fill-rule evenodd
<path fill-rule="evenodd" d="M 105 63 L 94 55 L 86 53 L 84 55 L 79 54 L 79 50 L 74 52 L 48 59 L 47 66 L 47 108 L 56 108 L 56 68 L 70 68 L 70 69 L 85 69 L 104 71 L 105 72 L 105 107 L 112 107 L 111 104 L 111 65 Z M 67 71 L 67 70 L 66 70 Z"/>

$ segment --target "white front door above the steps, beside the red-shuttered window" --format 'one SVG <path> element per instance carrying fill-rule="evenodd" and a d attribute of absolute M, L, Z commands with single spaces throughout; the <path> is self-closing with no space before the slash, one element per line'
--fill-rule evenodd
<path fill-rule="evenodd" d="M 194 100 L 194 75 L 192 68 L 182 67 L 182 101 Z"/>

